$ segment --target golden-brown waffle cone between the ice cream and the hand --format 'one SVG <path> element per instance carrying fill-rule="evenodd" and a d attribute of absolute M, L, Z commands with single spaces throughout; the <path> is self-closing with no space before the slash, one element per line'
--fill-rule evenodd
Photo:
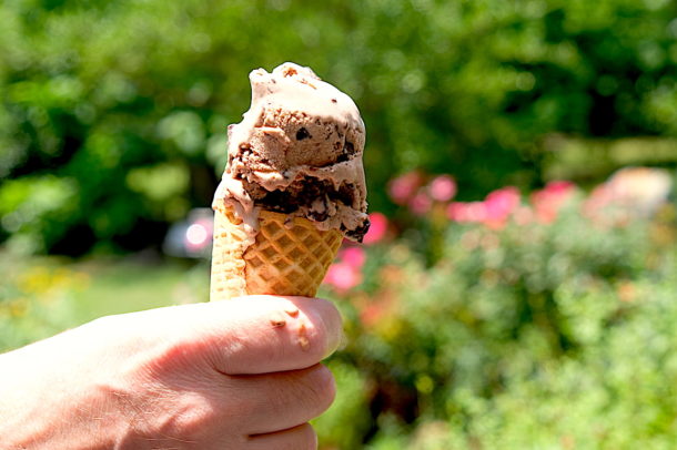
<path fill-rule="evenodd" d="M 343 239 L 305 218 L 262 211 L 255 238 L 228 207 L 214 215 L 210 300 L 273 294 L 313 297 Z"/>

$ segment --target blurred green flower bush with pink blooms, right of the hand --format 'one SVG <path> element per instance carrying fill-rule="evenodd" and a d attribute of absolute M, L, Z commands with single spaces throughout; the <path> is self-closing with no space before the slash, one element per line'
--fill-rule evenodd
<path fill-rule="evenodd" d="M 425 237 L 344 249 L 360 276 L 327 279 L 348 334 L 333 364 L 357 370 L 371 418 L 340 448 L 669 448 L 676 208 L 649 221 L 609 196 L 618 180 L 431 202 Z"/>

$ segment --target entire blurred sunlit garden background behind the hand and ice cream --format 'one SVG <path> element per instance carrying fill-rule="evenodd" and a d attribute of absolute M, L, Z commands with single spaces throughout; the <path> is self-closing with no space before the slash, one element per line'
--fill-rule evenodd
<path fill-rule="evenodd" d="M 204 301 L 247 74 L 350 94 L 330 449 L 677 442 L 677 3 L 7 0 L 0 350 Z"/>

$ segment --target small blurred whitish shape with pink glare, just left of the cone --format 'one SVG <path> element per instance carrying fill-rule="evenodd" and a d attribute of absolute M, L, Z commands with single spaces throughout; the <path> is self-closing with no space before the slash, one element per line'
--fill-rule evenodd
<path fill-rule="evenodd" d="M 180 258 L 205 258 L 212 254 L 214 212 L 211 208 L 194 208 L 184 221 L 170 226 L 162 250 Z"/>

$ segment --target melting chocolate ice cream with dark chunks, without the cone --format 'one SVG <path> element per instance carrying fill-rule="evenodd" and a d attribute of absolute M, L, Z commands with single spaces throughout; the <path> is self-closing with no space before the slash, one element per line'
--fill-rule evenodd
<path fill-rule="evenodd" d="M 233 207 L 252 233 L 264 209 L 362 241 L 365 130 L 353 100 L 290 62 L 272 73 L 254 70 L 250 81 L 251 108 L 229 126 L 229 163 L 214 202 Z"/>

